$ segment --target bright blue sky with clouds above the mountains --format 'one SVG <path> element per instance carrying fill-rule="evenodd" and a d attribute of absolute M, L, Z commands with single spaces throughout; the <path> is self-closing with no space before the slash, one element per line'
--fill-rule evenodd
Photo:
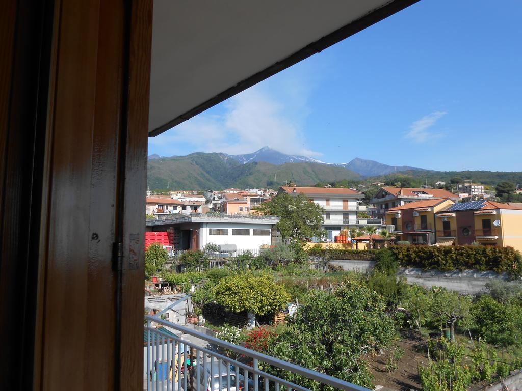
<path fill-rule="evenodd" d="M 522 1 L 421 0 L 149 138 L 440 170 L 522 170 Z M 195 137 L 199 135 L 199 137 Z"/>

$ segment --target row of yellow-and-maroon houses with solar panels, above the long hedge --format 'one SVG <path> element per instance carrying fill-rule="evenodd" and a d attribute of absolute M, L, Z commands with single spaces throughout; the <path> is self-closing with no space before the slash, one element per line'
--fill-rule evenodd
<path fill-rule="evenodd" d="M 511 246 L 522 250 L 522 208 L 490 200 L 411 202 L 386 212 L 397 240 L 418 245 Z"/>

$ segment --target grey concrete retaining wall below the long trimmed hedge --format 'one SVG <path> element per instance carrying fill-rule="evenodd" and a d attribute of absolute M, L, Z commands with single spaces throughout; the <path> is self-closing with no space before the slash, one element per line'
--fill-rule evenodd
<path fill-rule="evenodd" d="M 366 272 L 375 267 L 375 261 L 332 260 L 331 264 L 339 265 L 345 271 Z M 492 279 L 507 280 L 507 274 L 495 272 L 478 272 L 466 270 L 463 272 L 441 272 L 438 270 L 422 271 L 420 268 L 399 268 L 399 277 L 405 277 L 408 284 L 418 284 L 426 288 L 440 286 L 454 290 L 462 295 L 474 295 L 485 289 Z"/>

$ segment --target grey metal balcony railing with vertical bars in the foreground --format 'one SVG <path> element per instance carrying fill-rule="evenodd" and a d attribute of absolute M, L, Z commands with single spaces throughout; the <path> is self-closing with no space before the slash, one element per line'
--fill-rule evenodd
<path fill-rule="evenodd" d="M 158 389 L 173 391 L 308 390 L 308 388 L 264 371 L 263 369 L 268 365 L 299 374 L 316 381 L 319 385 L 331 386 L 334 389 L 367 391 L 366 388 L 338 378 L 231 344 L 156 316 L 145 316 L 145 320 L 147 322 L 145 327 L 147 342 L 145 345 L 144 388 L 147 391 Z M 165 331 L 157 329 L 152 326 L 152 323 L 157 323 L 167 329 L 164 329 Z M 180 336 L 168 332 L 168 329 L 176 334 L 196 337 L 202 340 L 203 344 L 182 339 Z M 241 361 L 216 352 L 216 347 L 233 352 L 233 355 L 240 357 Z M 202 379 L 204 384 L 200 384 Z"/>

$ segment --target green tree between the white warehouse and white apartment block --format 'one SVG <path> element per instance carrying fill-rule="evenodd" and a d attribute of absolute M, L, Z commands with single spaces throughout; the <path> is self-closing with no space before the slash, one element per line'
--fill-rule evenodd
<path fill-rule="evenodd" d="M 287 193 L 280 194 L 261 204 L 257 211 L 264 215 L 281 216 L 275 228 L 283 239 L 299 242 L 325 235 L 321 229 L 324 209 L 302 193 L 296 197 Z"/>

